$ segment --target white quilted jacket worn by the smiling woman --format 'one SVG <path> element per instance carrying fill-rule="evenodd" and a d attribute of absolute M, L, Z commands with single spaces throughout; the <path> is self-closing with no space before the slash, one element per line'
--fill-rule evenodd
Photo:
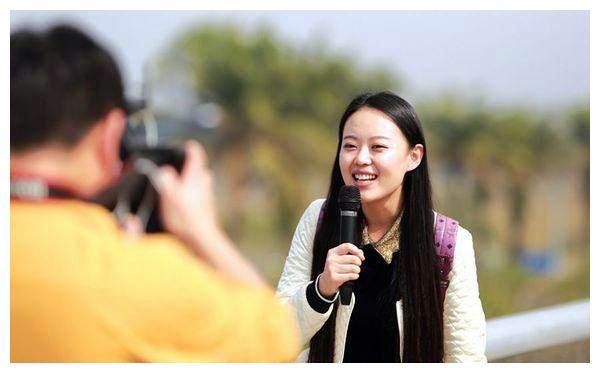
<path fill-rule="evenodd" d="M 325 199 L 313 201 L 300 218 L 292 239 L 290 252 L 277 286 L 278 295 L 292 304 L 300 326 L 305 347 L 331 315 L 333 306 L 322 314 L 311 308 L 306 300 L 306 287 L 311 283 L 313 239 L 319 212 Z M 444 303 L 444 362 L 486 362 L 485 316 L 479 300 L 479 287 L 475 268 L 475 254 L 471 234 L 460 227 L 456 238 L 454 263 L 449 275 L 450 284 Z M 334 362 L 342 362 L 346 333 L 354 308 L 354 295 L 350 305 L 339 305 L 335 324 Z M 403 323 L 402 300 L 396 302 L 398 329 L 400 331 L 400 356 L 402 356 Z M 298 362 L 308 361 L 308 348 L 298 357 Z"/>

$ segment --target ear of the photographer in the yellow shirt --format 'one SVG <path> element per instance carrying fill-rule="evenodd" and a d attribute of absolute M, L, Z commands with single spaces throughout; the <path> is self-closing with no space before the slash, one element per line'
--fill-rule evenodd
<path fill-rule="evenodd" d="M 99 156 L 102 167 L 112 177 L 118 177 L 123 166 L 119 158 L 121 138 L 125 133 L 127 116 L 121 109 L 111 109 L 104 117 L 100 135 Z"/>

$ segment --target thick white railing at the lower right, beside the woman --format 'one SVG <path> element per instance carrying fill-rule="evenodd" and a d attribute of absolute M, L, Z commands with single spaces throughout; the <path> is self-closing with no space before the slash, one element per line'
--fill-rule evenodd
<path fill-rule="evenodd" d="M 489 361 L 590 337 L 590 300 L 580 300 L 487 321 Z"/>

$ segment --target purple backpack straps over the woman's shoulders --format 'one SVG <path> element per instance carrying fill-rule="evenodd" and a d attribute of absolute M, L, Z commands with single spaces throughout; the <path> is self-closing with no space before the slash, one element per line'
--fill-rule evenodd
<path fill-rule="evenodd" d="M 317 230 L 321 226 L 324 212 L 325 203 L 321 207 L 321 212 L 319 213 Z M 454 248 L 456 246 L 458 221 L 438 213 L 435 218 L 433 229 L 435 230 L 435 251 L 438 257 L 437 269 L 440 271 L 440 291 L 442 304 L 444 304 L 444 300 L 446 299 L 446 290 L 448 289 L 450 282 L 448 277 L 450 275 L 450 271 L 452 270 L 452 262 L 454 261 Z"/>

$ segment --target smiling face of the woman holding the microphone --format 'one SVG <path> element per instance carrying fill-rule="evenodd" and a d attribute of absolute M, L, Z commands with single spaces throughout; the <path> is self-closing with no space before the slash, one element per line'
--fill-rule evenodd
<path fill-rule="evenodd" d="M 419 165 L 422 155 L 423 146 L 411 148 L 387 115 L 362 108 L 346 121 L 339 165 L 344 183 L 360 189 L 363 204 L 399 206 L 404 174 Z"/>

